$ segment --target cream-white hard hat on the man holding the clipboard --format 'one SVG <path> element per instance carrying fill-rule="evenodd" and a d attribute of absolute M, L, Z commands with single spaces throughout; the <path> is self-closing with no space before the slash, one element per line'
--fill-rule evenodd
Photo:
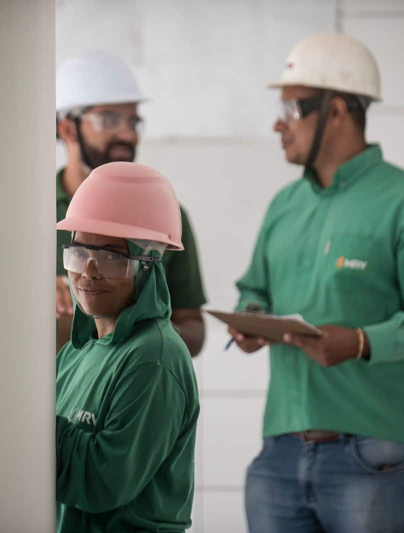
<path fill-rule="evenodd" d="M 312 34 L 299 41 L 286 60 L 281 79 L 268 87 L 304 85 L 381 100 L 380 74 L 365 45 L 342 33 Z"/>

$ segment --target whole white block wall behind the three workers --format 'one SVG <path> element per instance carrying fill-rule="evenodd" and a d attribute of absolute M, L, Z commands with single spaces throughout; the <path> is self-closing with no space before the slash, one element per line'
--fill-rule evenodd
<path fill-rule="evenodd" d="M 147 128 L 137 160 L 175 185 L 197 235 L 207 308 L 230 309 L 268 201 L 300 172 L 284 163 L 271 132 L 278 95 L 266 84 L 299 37 L 334 28 L 357 36 L 383 76 L 385 101 L 371 111 L 369 139 L 404 165 L 403 21 L 400 0 L 64 0 L 57 64 L 82 49 L 106 49 L 136 70 L 153 98 L 142 106 Z M 61 163 L 61 147 L 57 154 Z M 224 352 L 225 328 L 214 319 L 207 325 L 194 360 L 201 417 L 192 531 L 243 533 L 243 475 L 260 446 L 267 357 Z"/>

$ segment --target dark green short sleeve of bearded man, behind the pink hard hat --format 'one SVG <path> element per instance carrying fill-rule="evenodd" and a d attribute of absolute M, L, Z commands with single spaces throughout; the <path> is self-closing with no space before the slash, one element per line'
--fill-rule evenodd
<path fill-rule="evenodd" d="M 191 223 L 181 207 L 184 251 L 171 253 L 166 266 L 172 309 L 195 309 L 206 303 Z M 163 256 L 164 257 L 164 256 Z"/>

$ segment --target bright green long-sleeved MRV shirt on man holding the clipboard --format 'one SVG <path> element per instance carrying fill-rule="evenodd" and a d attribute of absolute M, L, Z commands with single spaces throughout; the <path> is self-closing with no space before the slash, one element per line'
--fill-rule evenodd
<path fill-rule="evenodd" d="M 404 442 L 404 171 L 378 146 L 327 189 L 306 173 L 278 193 L 237 288 L 237 309 L 257 302 L 361 327 L 370 343 L 369 361 L 331 367 L 272 345 L 264 436 L 323 429 Z"/>

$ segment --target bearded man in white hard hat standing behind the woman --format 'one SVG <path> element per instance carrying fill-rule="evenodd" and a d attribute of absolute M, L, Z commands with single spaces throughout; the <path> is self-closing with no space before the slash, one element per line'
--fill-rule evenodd
<path fill-rule="evenodd" d="M 113 55 L 94 52 L 68 58 L 56 80 L 57 134 L 67 148 L 68 162 L 56 176 L 57 220 L 64 219 L 70 200 L 93 168 L 113 161 L 133 161 L 142 125 L 139 104 L 145 100 L 132 72 Z M 192 356 L 204 339 L 201 305 L 205 303 L 195 240 L 181 207 L 184 252 L 164 255 L 170 290 L 171 320 Z M 62 246 L 70 233 L 57 237 L 57 349 L 70 338 L 73 302 Z"/>

